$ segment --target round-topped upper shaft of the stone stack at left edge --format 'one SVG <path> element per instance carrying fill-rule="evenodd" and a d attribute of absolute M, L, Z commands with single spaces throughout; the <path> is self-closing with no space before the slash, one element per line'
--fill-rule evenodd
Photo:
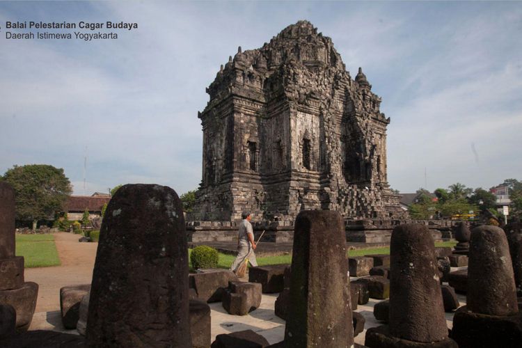
<path fill-rule="evenodd" d="M 0 181 L 0 259 L 15 256 L 15 190 Z"/>

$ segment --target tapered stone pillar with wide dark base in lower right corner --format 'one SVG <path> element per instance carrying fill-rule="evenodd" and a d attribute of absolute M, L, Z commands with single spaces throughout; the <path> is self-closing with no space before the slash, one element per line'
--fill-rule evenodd
<path fill-rule="evenodd" d="M 466 306 L 453 317 L 452 338 L 459 347 L 520 347 L 522 317 L 509 246 L 502 228 L 471 232 Z"/>

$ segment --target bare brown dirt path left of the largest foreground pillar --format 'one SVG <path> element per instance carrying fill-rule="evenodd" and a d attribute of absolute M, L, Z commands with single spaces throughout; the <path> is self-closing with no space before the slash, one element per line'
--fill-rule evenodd
<path fill-rule="evenodd" d="M 25 269 L 25 281 L 38 283 L 35 313 L 60 310 L 60 288 L 90 284 L 93 279 L 97 243 L 79 243 L 79 235 L 54 233 L 61 266 Z"/>

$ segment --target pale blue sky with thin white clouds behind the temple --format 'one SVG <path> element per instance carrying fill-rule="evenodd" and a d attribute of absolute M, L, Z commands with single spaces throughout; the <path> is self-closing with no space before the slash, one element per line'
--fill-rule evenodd
<path fill-rule="evenodd" d="M 63 168 L 74 194 L 201 180 L 205 88 L 300 19 L 382 97 L 402 193 L 522 180 L 522 2 L 0 1 L 0 175 Z M 117 40 L 14 40 L 6 22 L 132 22 Z M 76 29 L 84 33 L 97 33 Z M 84 184 L 85 178 L 85 184 Z"/>

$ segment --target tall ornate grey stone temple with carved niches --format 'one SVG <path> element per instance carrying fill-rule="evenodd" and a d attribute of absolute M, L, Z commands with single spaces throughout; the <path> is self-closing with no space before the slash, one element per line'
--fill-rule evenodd
<path fill-rule="evenodd" d="M 361 68 L 301 21 L 242 52 L 207 88 L 203 179 L 195 218 L 293 221 L 304 209 L 345 219 L 402 219 L 386 178 L 386 127 Z"/>

